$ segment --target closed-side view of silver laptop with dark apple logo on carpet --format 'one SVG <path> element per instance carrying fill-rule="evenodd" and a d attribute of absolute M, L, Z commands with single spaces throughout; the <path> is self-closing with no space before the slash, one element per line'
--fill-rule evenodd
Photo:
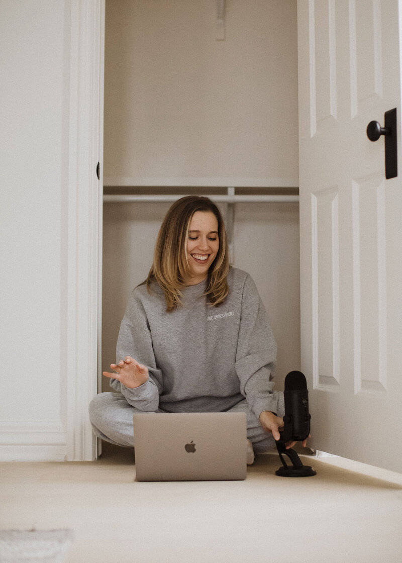
<path fill-rule="evenodd" d="M 137 481 L 240 480 L 247 473 L 245 413 L 137 413 Z"/>

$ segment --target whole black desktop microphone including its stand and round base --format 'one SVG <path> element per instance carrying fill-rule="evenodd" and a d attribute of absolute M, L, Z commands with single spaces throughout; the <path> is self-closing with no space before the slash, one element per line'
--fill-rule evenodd
<path fill-rule="evenodd" d="M 276 449 L 283 467 L 280 467 L 275 473 L 281 477 L 316 475 L 312 467 L 303 465 L 300 457 L 292 448 L 286 449 L 287 442 L 303 441 L 310 435 L 309 391 L 307 391 L 306 378 L 301 372 L 290 372 L 285 377 L 284 398 L 283 431 L 279 432 L 280 439 L 276 441 Z M 288 466 L 283 455 L 287 455 L 292 466 Z"/>

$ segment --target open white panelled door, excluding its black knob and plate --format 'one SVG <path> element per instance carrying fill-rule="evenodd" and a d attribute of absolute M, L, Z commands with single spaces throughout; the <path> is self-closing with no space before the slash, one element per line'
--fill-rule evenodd
<path fill-rule="evenodd" d="M 401 2 L 299 0 L 302 370 L 311 445 L 402 471 Z M 397 109 L 399 176 L 366 135 Z"/>

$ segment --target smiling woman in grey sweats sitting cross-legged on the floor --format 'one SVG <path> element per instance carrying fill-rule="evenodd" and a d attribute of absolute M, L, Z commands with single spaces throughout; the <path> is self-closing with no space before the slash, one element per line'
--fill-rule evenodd
<path fill-rule="evenodd" d="M 148 278 L 128 302 L 114 373 L 104 372 L 116 392 L 91 401 L 93 430 L 132 447 L 135 412 L 244 412 L 252 463 L 254 452 L 275 446 L 283 427 L 275 359 L 256 285 L 229 266 L 219 209 L 186 196 L 164 218 Z"/>

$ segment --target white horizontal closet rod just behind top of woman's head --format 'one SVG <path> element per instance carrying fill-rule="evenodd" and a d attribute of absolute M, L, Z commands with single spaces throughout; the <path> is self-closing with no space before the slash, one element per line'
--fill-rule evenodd
<path fill-rule="evenodd" d="M 175 202 L 183 195 L 104 195 L 105 203 L 125 203 L 125 202 Z M 298 202 L 298 195 L 207 195 L 217 203 L 289 203 Z"/>

